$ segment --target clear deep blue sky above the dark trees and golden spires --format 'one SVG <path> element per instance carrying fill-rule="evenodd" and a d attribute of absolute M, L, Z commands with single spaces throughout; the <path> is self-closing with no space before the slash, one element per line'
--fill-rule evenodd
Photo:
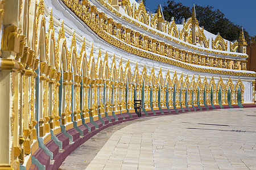
<path fill-rule="evenodd" d="M 193 1 L 200 6 L 213 6 L 222 11 L 233 23 L 242 25 L 250 36 L 256 35 L 256 0 L 175 0 L 185 6 L 193 6 Z M 146 0 L 146 7 L 154 11 L 158 2 L 164 6 L 164 0 Z"/>

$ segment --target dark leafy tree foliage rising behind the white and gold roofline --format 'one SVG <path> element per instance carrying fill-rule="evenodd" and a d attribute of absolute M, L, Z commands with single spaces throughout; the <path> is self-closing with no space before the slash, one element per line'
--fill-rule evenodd
<path fill-rule="evenodd" d="M 225 14 L 220 10 L 214 10 L 212 6 L 199 6 L 196 5 L 196 18 L 199 20 L 200 27 L 204 27 L 205 30 L 217 35 L 220 35 L 229 41 L 237 40 L 241 31 L 241 26 L 234 24 Z M 183 18 L 190 18 L 192 15 L 192 7 L 182 5 L 181 2 L 174 2 L 174 0 L 168 0 L 167 5 L 163 6 L 164 18 L 170 22 L 174 17 L 177 24 L 181 24 Z M 250 41 L 251 37 L 248 32 L 243 29 L 245 39 Z"/>

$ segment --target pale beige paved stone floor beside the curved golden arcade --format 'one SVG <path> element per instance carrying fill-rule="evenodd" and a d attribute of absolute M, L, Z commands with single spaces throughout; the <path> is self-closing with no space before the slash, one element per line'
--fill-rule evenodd
<path fill-rule="evenodd" d="M 109 135 L 101 131 L 60 169 L 256 169 L 255 108 L 140 118 L 127 124 L 105 129 L 113 131 Z M 92 161 L 83 159 L 93 150 L 97 155 L 91 154 Z"/>

